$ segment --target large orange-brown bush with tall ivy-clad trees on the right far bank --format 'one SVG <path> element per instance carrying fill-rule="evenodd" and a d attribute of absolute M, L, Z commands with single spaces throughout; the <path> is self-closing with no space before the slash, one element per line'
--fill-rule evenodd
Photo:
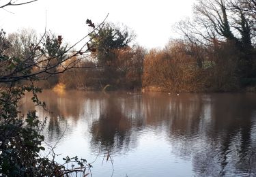
<path fill-rule="evenodd" d="M 255 10 L 251 0 L 197 1 L 193 18 L 175 25 L 182 38 L 146 54 L 143 87 L 205 92 L 255 86 Z"/>

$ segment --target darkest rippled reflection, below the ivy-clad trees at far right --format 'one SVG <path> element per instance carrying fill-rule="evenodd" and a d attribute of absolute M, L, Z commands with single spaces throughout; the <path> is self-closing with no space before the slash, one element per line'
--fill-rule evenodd
<path fill-rule="evenodd" d="M 255 99 L 248 95 L 212 95 L 211 123 L 204 125 L 207 129 L 202 132 L 205 136 L 205 150 L 193 153 L 193 165 L 197 174 L 231 176 L 236 172 L 248 173 L 246 161 L 248 155 L 251 155 L 251 149 L 255 147 L 251 140 L 255 126 L 255 106 Z M 253 173 L 255 172 L 254 168 Z"/>

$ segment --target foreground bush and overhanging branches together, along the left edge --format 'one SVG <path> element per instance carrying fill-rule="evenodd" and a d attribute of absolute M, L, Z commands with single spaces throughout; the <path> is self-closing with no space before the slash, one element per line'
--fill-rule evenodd
<path fill-rule="evenodd" d="M 1 7 L 0 7 L 1 8 Z M 95 27 L 91 20 L 88 25 Z M 72 57 L 85 54 L 88 48 L 72 51 L 62 44 L 61 35 L 44 33 L 36 43 L 20 42 L 16 47 L 0 31 L 0 176 L 68 176 L 69 174 L 90 174 L 91 165 L 85 159 L 66 157 L 65 163 L 55 161 L 55 146 L 44 141 L 42 129 L 46 120 L 40 121 L 35 111 L 22 115 L 19 111 L 20 99 L 26 93 L 32 93 L 31 101 L 36 106 L 45 108 L 45 103 L 38 99 L 42 89 L 33 82 L 51 80 L 51 76 L 74 67 L 79 61 Z M 86 46 L 87 43 L 85 43 Z M 17 49 L 17 50 L 15 50 Z M 18 51 L 18 52 L 17 52 Z M 82 59 L 82 58 L 80 58 Z M 64 65 L 68 63 L 68 65 Z M 44 144 L 44 146 L 43 146 Z M 45 152 L 46 145 L 50 148 Z"/>

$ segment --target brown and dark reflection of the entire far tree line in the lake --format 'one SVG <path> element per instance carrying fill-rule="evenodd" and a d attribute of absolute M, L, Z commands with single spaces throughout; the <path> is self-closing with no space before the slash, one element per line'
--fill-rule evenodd
<path fill-rule="evenodd" d="M 44 93 L 53 110 L 50 140 L 61 135 L 66 121 L 68 133 L 85 123 L 91 150 L 116 155 L 137 148 L 141 133 L 154 131 L 165 133 L 172 155 L 192 161 L 196 176 L 256 174 L 255 95 L 54 94 Z M 88 129 L 80 131 L 88 135 Z"/>

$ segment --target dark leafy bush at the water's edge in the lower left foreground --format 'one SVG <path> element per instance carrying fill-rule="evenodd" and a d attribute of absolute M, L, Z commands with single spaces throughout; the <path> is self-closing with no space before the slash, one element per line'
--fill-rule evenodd
<path fill-rule="evenodd" d="M 38 106 L 45 106 L 40 102 L 37 94 L 42 90 L 31 86 L 10 86 L 1 88 L 0 93 L 0 174 L 2 176 L 62 176 L 63 174 L 89 172 L 91 167 L 85 159 L 67 157 L 66 163 L 55 161 L 54 148 L 48 155 L 42 156 L 44 143 L 45 121 L 42 122 L 31 111 L 27 116 L 18 112 L 18 101 L 25 92 L 33 93 L 31 101 Z M 76 163 L 76 166 L 71 165 Z M 67 164 L 68 168 L 67 168 Z"/>

